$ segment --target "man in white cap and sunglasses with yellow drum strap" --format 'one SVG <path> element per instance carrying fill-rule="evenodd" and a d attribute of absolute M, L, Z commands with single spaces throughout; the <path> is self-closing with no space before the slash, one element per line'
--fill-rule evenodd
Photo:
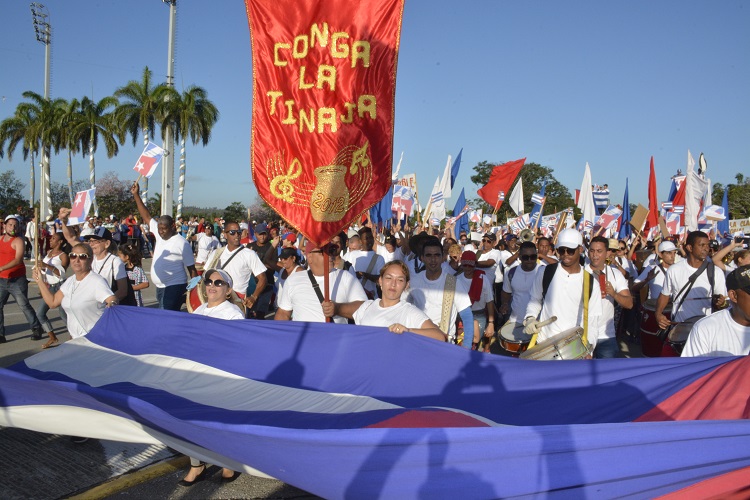
<path fill-rule="evenodd" d="M 602 296 L 591 273 L 581 266 L 583 239 L 575 229 L 563 229 L 557 238 L 560 262 L 549 264 L 539 271 L 531 287 L 531 298 L 526 308 L 526 333 L 538 333 L 537 343 L 558 333 L 584 329 L 591 352 L 596 348 L 602 314 Z M 545 276 L 551 279 L 545 289 Z M 588 280 L 589 295 L 584 297 L 584 280 Z M 584 318 L 584 310 L 588 315 Z M 538 323 L 553 316 L 557 320 L 540 328 Z"/>

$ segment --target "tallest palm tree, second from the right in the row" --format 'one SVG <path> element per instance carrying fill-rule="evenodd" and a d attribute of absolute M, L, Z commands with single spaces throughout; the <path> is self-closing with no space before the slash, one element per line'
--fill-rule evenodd
<path fill-rule="evenodd" d="M 115 91 L 115 97 L 124 100 L 117 106 L 115 117 L 123 133 L 132 137 L 133 146 L 140 131 L 143 131 L 143 146 L 148 145 L 157 120 L 163 116 L 165 97 L 174 92 L 164 83 L 154 85 L 151 76 L 146 66 L 141 81 L 131 80 Z M 141 197 L 146 200 L 147 195 L 148 179 L 144 178 Z"/>

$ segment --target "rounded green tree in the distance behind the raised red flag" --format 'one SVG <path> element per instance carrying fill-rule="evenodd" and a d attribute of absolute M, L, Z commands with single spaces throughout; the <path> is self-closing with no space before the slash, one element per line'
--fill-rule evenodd
<path fill-rule="evenodd" d="M 492 170 L 498 165 L 498 163 L 489 163 L 487 161 L 479 162 L 474 167 L 474 175 L 471 176 L 471 182 L 479 187 L 484 186 L 490 179 Z M 545 197 L 547 201 L 544 205 L 544 212 L 551 214 L 559 212 L 568 207 L 574 206 L 573 198 L 570 195 L 570 191 L 564 185 L 562 185 L 553 175 L 553 170 L 550 167 L 544 167 L 538 163 L 525 163 L 521 172 L 513 181 L 513 185 L 505 193 L 506 201 L 500 206 L 497 211 L 498 220 L 505 221 L 508 218 L 515 217 L 513 210 L 508 206 L 507 199 L 510 197 L 510 193 L 513 188 L 518 184 L 518 179 L 523 179 L 523 193 L 524 193 L 524 212 L 529 213 L 533 208 L 534 204 L 531 203 L 531 195 L 538 193 L 542 190 L 544 181 L 547 181 L 547 187 L 545 189 Z M 495 207 L 490 206 L 481 198 L 474 198 L 471 203 L 474 208 L 482 208 L 485 213 L 492 213 Z"/>

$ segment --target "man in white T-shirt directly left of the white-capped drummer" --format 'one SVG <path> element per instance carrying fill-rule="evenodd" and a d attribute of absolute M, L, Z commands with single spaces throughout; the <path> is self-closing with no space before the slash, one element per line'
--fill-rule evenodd
<path fill-rule="evenodd" d="M 508 316 L 508 322 L 521 323 L 531 299 L 531 287 L 540 266 L 537 265 L 537 247 L 530 241 L 521 243 L 520 266 L 511 268 L 503 279 L 503 301 L 500 313 Z"/>

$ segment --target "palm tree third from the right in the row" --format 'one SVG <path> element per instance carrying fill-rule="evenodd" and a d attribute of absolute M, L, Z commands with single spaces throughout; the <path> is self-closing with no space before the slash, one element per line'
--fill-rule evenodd
<path fill-rule="evenodd" d="M 112 158 L 118 153 L 117 139 L 119 139 L 120 144 L 125 141 L 125 133 L 118 128 L 114 118 L 118 104 L 117 98 L 112 96 L 107 96 L 99 102 L 95 102 L 88 97 L 81 99 L 80 112 L 72 135 L 80 142 L 81 149 L 89 152 L 89 183 L 92 188 L 96 185 L 94 153 L 99 146 L 99 138 L 104 141 L 107 158 Z M 110 108 L 111 111 L 109 111 Z M 135 141 L 133 142 L 135 143 Z M 94 214 L 99 215 L 96 198 L 94 198 Z"/>

